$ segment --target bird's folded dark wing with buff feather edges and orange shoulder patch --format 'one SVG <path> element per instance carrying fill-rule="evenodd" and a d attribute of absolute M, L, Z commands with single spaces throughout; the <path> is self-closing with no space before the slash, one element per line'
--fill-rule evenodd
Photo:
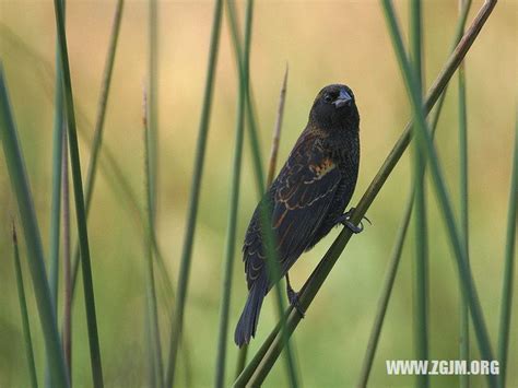
<path fill-rule="evenodd" d="M 306 136 L 297 142 L 269 191 L 282 275 L 313 240 L 340 179 L 338 166 L 318 138 Z M 266 264 L 259 211 L 256 209 L 244 246 L 249 286 Z"/>

